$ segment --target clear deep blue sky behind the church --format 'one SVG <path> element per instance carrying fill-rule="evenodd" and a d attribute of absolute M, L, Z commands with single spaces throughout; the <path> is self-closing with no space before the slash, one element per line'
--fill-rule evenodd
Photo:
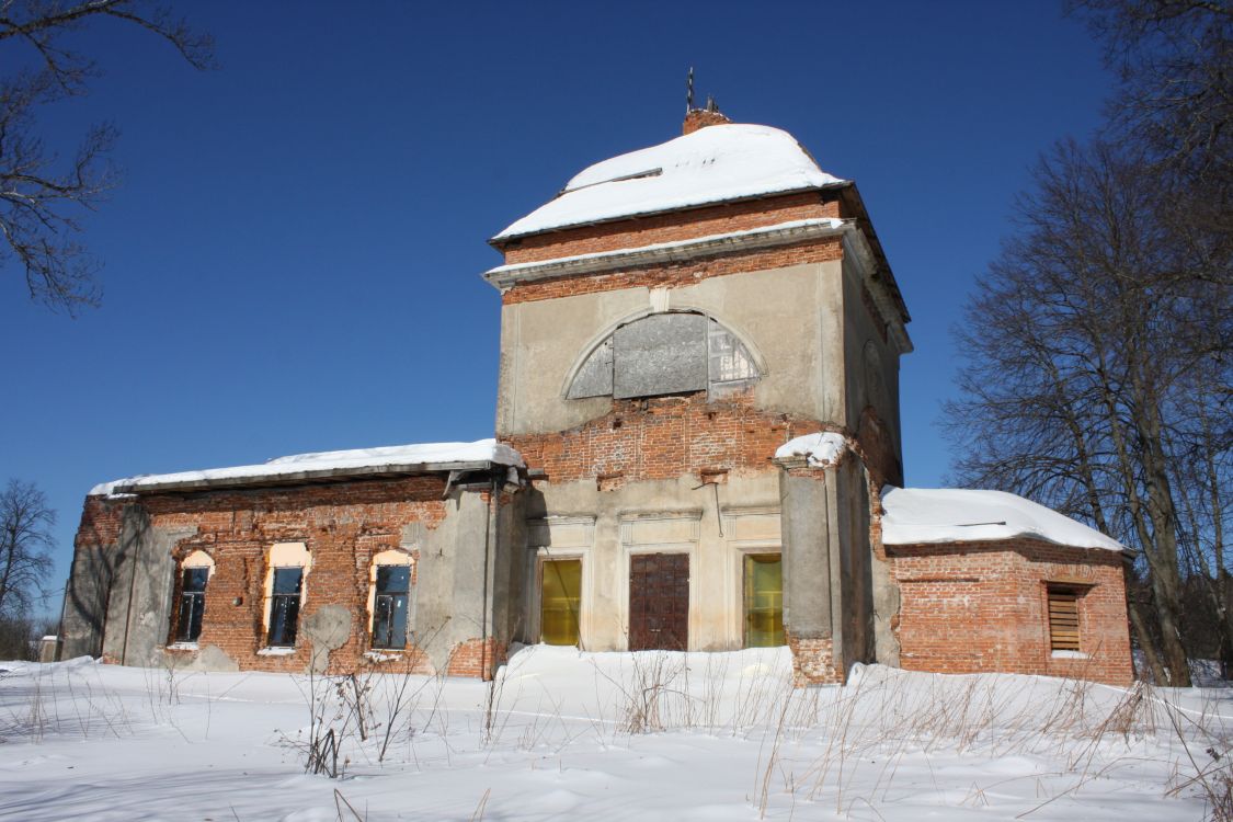
<path fill-rule="evenodd" d="M 218 70 L 99 25 L 75 42 L 105 75 L 42 121 L 65 154 L 90 123 L 122 132 L 123 185 L 84 218 L 102 307 L 48 313 L 0 269 L 0 479 L 58 510 L 57 589 L 96 482 L 491 436 L 485 240 L 583 166 L 679 134 L 690 65 L 700 99 L 857 181 L 912 314 L 907 483 L 940 484 L 949 329 L 1028 166 L 1090 136 L 1112 84 L 1052 2 L 182 10 Z"/>

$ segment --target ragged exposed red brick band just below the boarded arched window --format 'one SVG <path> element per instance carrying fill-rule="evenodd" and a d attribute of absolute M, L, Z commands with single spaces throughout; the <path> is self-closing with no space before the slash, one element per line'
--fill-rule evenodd
<path fill-rule="evenodd" d="M 518 449 L 529 467 L 544 468 L 551 482 L 603 476 L 609 487 L 619 487 L 705 468 L 768 471 L 777 447 L 820 428 L 756 409 L 751 392 L 708 403 L 702 391 L 614 399 L 610 412 L 567 431 L 501 439 Z"/>

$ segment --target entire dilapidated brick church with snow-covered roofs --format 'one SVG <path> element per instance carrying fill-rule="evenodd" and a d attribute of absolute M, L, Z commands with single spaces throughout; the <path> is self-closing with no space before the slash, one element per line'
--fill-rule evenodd
<path fill-rule="evenodd" d="M 96 487 L 62 657 L 487 679 L 519 643 L 785 645 L 800 684 L 1132 678 L 1121 546 L 898 488 L 907 309 L 790 136 L 692 111 L 491 243 L 494 440 Z"/>

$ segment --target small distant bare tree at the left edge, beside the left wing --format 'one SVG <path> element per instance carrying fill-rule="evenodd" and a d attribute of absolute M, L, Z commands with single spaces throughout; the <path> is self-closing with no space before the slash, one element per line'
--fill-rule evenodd
<path fill-rule="evenodd" d="M 33 483 L 10 479 L 0 492 L 0 617 L 30 616 L 52 569 L 55 511 Z"/>

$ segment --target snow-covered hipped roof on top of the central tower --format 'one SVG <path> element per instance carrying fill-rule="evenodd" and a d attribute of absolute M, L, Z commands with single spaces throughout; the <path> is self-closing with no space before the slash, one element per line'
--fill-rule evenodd
<path fill-rule="evenodd" d="M 788 132 L 727 123 L 584 169 L 551 202 L 493 238 L 688 208 L 727 200 L 846 185 Z"/>

